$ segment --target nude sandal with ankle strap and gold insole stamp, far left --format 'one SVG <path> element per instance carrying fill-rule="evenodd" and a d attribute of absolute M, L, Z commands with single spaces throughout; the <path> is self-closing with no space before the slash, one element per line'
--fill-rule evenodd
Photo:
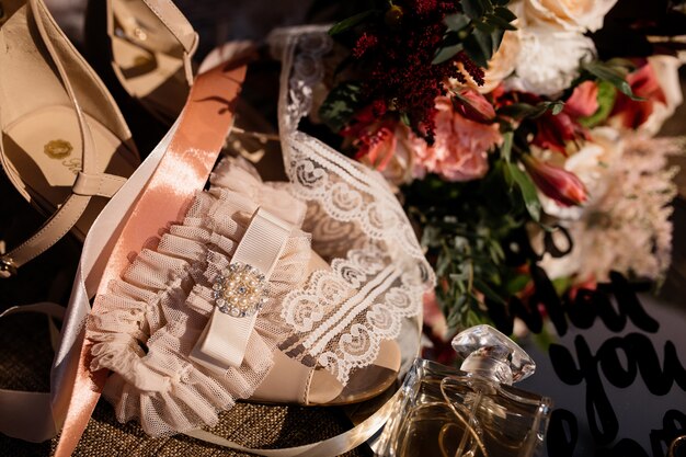
<path fill-rule="evenodd" d="M 43 0 L 0 0 L 0 161 L 34 207 L 52 215 L 0 258 L 0 277 L 67 232 L 81 240 L 139 163 L 114 100 Z"/>

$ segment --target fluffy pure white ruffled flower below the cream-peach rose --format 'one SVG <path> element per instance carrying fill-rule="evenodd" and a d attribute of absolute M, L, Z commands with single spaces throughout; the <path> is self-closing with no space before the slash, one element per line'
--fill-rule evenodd
<path fill-rule="evenodd" d="M 578 32 L 522 28 L 515 76 L 505 80 L 507 90 L 554 95 L 579 76 L 580 62 L 593 58 L 593 41 Z"/>

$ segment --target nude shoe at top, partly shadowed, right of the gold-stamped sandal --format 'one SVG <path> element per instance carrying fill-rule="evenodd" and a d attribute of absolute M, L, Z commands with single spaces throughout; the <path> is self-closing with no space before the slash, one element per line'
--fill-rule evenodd
<path fill-rule="evenodd" d="M 117 80 L 148 112 L 171 125 L 193 83 L 197 33 L 170 0 L 106 0 L 106 16 Z"/>

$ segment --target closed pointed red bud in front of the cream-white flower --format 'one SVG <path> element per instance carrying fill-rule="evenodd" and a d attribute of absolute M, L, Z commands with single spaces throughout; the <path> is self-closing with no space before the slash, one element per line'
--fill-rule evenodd
<path fill-rule="evenodd" d="M 536 186 L 549 198 L 562 206 L 580 205 L 586 201 L 586 187 L 574 173 L 530 155 L 523 156 L 522 161 Z"/>

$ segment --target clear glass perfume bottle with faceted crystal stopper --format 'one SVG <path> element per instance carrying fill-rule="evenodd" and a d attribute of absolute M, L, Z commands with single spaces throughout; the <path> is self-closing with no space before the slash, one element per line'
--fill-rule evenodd
<path fill-rule="evenodd" d="M 490 325 L 453 340 L 460 369 L 418 358 L 377 445 L 382 456 L 529 457 L 544 441 L 552 402 L 512 387 L 534 361 Z"/>

